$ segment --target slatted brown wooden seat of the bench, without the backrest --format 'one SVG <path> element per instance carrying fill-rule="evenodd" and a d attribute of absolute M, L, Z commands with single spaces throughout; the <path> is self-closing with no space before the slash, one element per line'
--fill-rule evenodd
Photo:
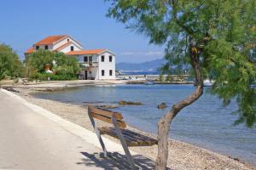
<path fill-rule="evenodd" d="M 99 130 L 102 134 L 108 134 L 113 138 L 119 139 L 113 127 L 100 127 Z M 128 146 L 150 146 L 157 144 L 156 139 L 152 139 L 140 133 L 130 132 L 131 130 L 121 129 L 121 133 L 123 134 L 125 142 Z"/>

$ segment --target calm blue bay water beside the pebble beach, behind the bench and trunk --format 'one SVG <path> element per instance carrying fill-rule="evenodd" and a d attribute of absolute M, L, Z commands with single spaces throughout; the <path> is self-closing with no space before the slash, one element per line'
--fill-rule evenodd
<path fill-rule="evenodd" d="M 125 122 L 131 126 L 156 133 L 160 117 L 165 115 L 172 104 L 193 90 L 193 85 L 114 85 L 34 95 L 79 105 L 84 105 L 84 102 L 116 104 L 121 99 L 141 101 L 143 105 L 121 106 L 115 111 L 120 111 Z M 157 109 L 161 102 L 166 102 L 168 107 Z M 231 113 L 236 109 L 235 102 L 224 107 L 216 96 L 205 93 L 177 115 L 172 122 L 170 136 L 256 165 L 256 129 L 248 129 L 244 125 L 233 126 L 236 115 Z"/>

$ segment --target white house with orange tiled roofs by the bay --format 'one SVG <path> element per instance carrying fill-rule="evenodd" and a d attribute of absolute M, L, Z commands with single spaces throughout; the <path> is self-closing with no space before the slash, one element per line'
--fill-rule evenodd
<path fill-rule="evenodd" d="M 38 49 L 62 52 L 68 57 L 78 59 L 82 71 L 79 78 L 85 80 L 115 79 L 115 54 L 108 49 L 83 50 L 82 45 L 72 37 L 49 36 L 33 44 L 25 54 L 31 54 Z"/>

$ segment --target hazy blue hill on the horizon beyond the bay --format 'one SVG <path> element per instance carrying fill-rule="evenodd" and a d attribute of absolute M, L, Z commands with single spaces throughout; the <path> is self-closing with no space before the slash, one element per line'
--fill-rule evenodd
<path fill-rule="evenodd" d="M 154 59 L 143 63 L 118 63 L 116 69 L 118 71 L 157 71 L 160 66 L 166 63 L 165 59 Z"/>

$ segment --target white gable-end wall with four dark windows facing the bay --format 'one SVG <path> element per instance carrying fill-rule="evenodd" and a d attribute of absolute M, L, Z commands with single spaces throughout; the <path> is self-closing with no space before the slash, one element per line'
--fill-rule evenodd
<path fill-rule="evenodd" d="M 102 62 L 102 55 L 104 55 L 104 62 Z M 112 55 L 112 62 L 109 62 L 109 56 Z M 98 55 L 99 62 L 99 79 L 115 79 L 115 55 L 105 52 Z M 102 76 L 102 70 L 105 71 L 105 75 Z M 109 70 L 112 70 L 112 76 L 109 76 Z"/>

